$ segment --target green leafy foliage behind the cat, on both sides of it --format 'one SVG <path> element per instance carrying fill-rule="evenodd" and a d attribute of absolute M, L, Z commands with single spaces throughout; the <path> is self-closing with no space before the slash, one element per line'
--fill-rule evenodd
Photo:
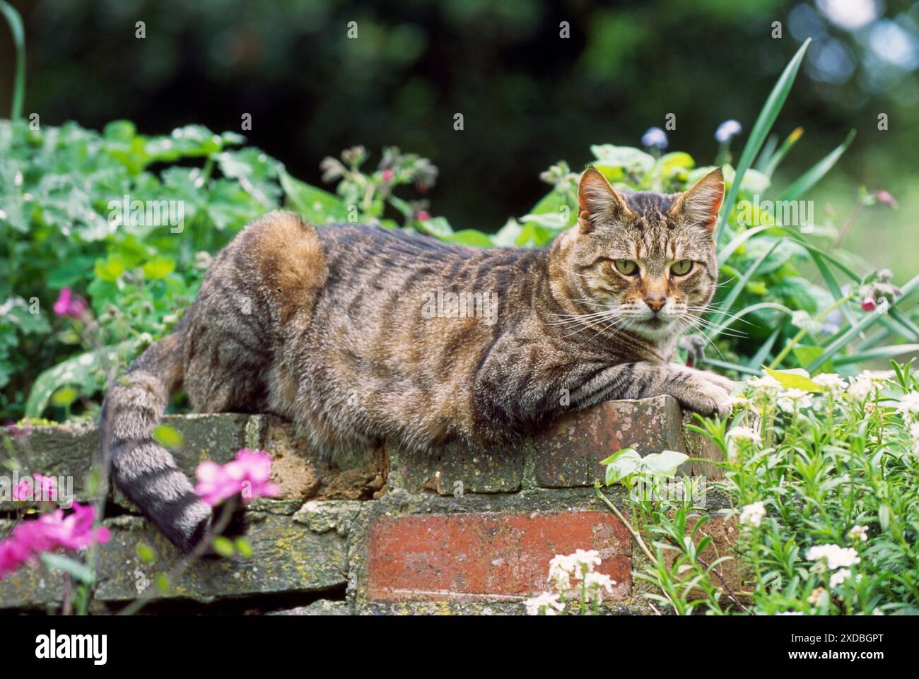
<path fill-rule="evenodd" d="M 800 130 L 781 145 L 767 135 L 807 47 L 767 98 L 741 155 L 740 167 L 750 167 L 740 179 L 727 162 L 730 136 L 722 141 L 723 281 L 698 333 L 681 345 L 687 362 L 735 374 L 756 374 L 764 364 L 845 372 L 917 348 L 910 343 L 919 342 L 919 327 L 898 307 L 919 287 L 919 277 L 901 290 L 890 284 L 889 272 L 859 274 L 857 257 L 816 244 L 834 235 L 832 226 L 781 224 L 760 202 L 774 194 L 800 199 L 851 141 L 850 135 L 789 187 L 772 189 L 772 173 Z M 21 85 L 17 81 L 17 89 Z M 269 209 L 294 209 L 319 225 L 379 223 L 482 247 L 547 245 L 577 217 L 578 174 L 563 161 L 541 175 L 551 188 L 533 209 L 489 234 L 454 231 L 446 219 L 431 216 L 424 198 L 403 198 L 411 187 L 425 195 L 437 178 L 437 168 L 415 154 L 386 148 L 374 169 L 359 146 L 340 160 L 326 158 L 323 178 L 336 182 L 333 194 L 290 176 L 283 164 L 243 142 L 234 132 L 214 134 L 199 125 L 148 137 L 126 120 L 101 133 L 75 123 L 0 121 L 0 261 L 6 267 L 0 417 L 40 417 L 49 403 L 56 417 L 94 416 L 107 380 L 175 326 L 210 255 Z M 593 164 L 620 189 L 680 191 L 712 167 L 656 148 L 596 144 L 591 152 Z M 866 194 L 866 205 L 877 202 Z M 816 271 L 823 285 L 812 283 L 805 269 Z M 71 289 L 89 298 L 90 313 L 51 318 L 42 311 Z M 65 386 L 78 398 L 55 401 Z"/>

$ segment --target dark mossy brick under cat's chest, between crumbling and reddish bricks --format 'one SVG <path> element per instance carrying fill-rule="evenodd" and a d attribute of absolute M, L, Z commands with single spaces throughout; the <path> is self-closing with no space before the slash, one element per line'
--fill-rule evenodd
<path fill-rule="evenodd" d="M 432 451 L 409 451 L 387 444 L 389 482 L 407 492 L 463 495 L 516 492 L 523 480 L 520 447 L 471 447 L 454 442 Z"/>

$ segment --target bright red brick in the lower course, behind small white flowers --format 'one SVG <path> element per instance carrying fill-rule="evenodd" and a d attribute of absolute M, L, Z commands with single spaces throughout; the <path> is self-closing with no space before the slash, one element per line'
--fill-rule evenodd
<path fill-rule="evenodd" d="M 494 600 L 544 592 L 549 560 L 596 549 L 598 571 L 631 590 L 628 530 L 606 512 L 409 515 L 378 519 L 369 532 L 371 600 Z"/>

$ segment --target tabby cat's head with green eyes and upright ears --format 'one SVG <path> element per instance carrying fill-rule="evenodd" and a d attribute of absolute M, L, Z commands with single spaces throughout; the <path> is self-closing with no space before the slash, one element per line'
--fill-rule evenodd
<path fill-rule="evenodd" d="M 663 195 L 620 193 L 588 168 L 566 239 L 570 299 L 605 327 L 655 342 L 686 330 L 715 293 L 713 232 L 723 196 L 720 170 Z"/>

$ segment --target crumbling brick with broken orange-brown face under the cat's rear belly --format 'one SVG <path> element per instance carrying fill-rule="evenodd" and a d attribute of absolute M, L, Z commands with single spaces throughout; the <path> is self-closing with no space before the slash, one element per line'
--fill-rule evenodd
<path fill-rule="evenodd" d="M 274 415 L 255 415 L 248 430 L 251 447 L 271 456 L 271 480 L 280 486 L 281 500 L 367 500 L 386 483 L 382 447 L 355 450 L 331 460 L 313 450 L 293 426 Z"/>

